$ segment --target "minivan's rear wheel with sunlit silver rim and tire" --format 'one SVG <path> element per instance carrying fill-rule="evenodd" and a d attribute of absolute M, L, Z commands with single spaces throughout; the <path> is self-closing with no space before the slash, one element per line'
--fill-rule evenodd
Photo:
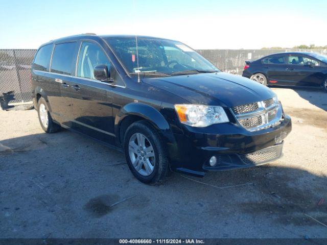
<path fill-rule="evenodd" d="M 46 133 L 55 133 L 60 130 L 60 126 L 56 124 L 50 115 L 48 104 L 43 97 L 40 97 L 37 103 L 37 113 L 42 129 Z"/>

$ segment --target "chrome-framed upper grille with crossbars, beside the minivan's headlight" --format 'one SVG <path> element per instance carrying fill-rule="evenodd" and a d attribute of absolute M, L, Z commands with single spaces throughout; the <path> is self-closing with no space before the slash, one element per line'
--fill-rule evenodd
<path fill-rule="evenodd" d="M 231 108 L 240 125 L 249 131 L 274 127 L 282 120 L 282 106 L 277 100 L 255 102 Z"/>

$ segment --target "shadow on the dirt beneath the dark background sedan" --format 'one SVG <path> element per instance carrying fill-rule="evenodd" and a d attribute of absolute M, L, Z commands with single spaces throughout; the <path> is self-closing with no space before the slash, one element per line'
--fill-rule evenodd
<path fill-rule="evenodd" d="M 271 88 L 281 88 L 278 86 L 269 86 Z M 294 88 L 283 86 L 283 88 L 289 88 L 294 90 L 300 97 L 308 101 L 310 104 L 327 111 L 327 93 L 321 88 Z"/>

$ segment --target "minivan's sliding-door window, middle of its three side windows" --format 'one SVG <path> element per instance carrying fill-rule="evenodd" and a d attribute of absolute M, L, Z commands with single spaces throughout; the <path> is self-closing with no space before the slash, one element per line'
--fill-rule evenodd
<path fill-rule="evenodd" d="M 72 75 L 76 42 L 56 44 L 52 55 L 51 72 Z"/>

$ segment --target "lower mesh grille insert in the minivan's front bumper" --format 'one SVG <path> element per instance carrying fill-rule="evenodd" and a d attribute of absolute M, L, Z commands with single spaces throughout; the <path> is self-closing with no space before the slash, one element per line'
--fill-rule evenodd
<path fill-rule="evenodd" d="M 273 145 L 260 151 L 240 155 L 242 161 L 246 164 L 259 165 L 261 163 L 272 161 L 282 155 L 283 144 Z"/>

